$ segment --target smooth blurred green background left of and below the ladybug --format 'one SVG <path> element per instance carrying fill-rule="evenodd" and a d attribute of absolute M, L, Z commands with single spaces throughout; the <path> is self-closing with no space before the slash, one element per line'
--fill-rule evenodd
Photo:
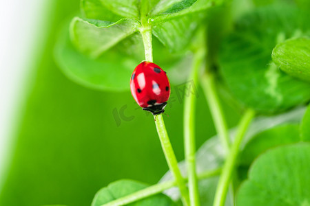
<path fill-rule="evenodd" d="M 16 144 L 0 205 L 90 205 L 101 187 L 117 179 L 156 183 L 168 168 L 152 115 L 136 109 L 130 91 L 92 91 L 65 78 L 54 62 L 54 43 L 63 21 L 79 11 L 79 0 L 54 0 L 47 5 L 52 6 L 44 20 L 48 38 L 31 68 L 34 86 L 22 106 L 17 135 L 12 137 Z M 165 123 L 181 161 L 183 104 L 173 92 Z M 215 130 L 200 89 L 197 101 L 199 147 Z M 126 105 L 130 121 L 119 113 Z M 225 113 L 229 126 L 234 126 L 238 114 L 227 106 Z"/>

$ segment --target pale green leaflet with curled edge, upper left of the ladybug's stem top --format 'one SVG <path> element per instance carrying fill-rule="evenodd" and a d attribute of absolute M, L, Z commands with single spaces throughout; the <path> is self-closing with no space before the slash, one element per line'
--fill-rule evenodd
<path fill-rule="evenodd" d="M 107 49 L 134 34 L 139 25 L 132 19 L 121 19 L 116 23 L 111 23 L 75 17 L 70 25 L 70 37 L 72 43 L 83 54 L 98 58 Z"/>

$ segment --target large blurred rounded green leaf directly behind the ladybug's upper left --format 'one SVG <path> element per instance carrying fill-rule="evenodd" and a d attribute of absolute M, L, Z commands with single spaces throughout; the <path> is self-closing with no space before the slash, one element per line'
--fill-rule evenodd
<path fill-rule="evenodd" d="M 118 43 L 116 47 L 105 52 L 103 56 L 92 59 L 79 52 L 72 45 L 68 33 L 68 24 L 65 24 L 54 49 L 55 60 L 65 76 L 90 89 L 107 91 L 127 91 L 130 89 L 132 71 L 144 58 L 140 34 L 132 34 Z M 176 69 L 178 72 L 184 71 L 181 74 L 176 73 L 169 80 L 178 82 L 178 78 L 187 75 L 189 58 L 184 55 L 170 54 L 156 38 L 153 40 L 153 47 L 156 63 L 161 65 L 168 75 L 170 70 L 172 74 L 176 73 L 174 72 Z"/>

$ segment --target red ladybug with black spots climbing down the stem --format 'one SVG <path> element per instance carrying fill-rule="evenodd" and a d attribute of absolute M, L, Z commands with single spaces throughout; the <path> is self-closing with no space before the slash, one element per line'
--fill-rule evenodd
<path fill-rule="evenodd" d="M 136 66 L 130 80 L 130 89 L 134 100 L 143 110 L 153 115 L 165 111 L 170 96 L 170 83 L 166 72 L 158 65 L 143 61 Z"/>

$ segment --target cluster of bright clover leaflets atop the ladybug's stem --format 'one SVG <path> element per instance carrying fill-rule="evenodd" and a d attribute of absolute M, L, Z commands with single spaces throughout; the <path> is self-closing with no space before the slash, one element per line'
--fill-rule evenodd
<path fill-rule="evenodd" d="M 166 11 L 164 11 L 165 14 L 158 16 L 147 16 L 148 21 L 153 25 L 153 34 L 170 52 L 182 53 L 190 45 L 198 23 L 206 16 L 203 11 L 211 7 L 209 0 L 198 1 L 197 3 L 195 3 L 196 0 L 142 1 L 139 9 L 140 12 L 146 14 L 156 5 L 156 10 L 161 8 Z M 127 4 L 136 4 L 134 1 L 130 2 Z M 72 41 L 81 52 L 92 58 L 97 58 L 107 49 L 138 30 L 140 27 L 140 23 L 137 21 L 139 16 L 115 12 L 113 5 L 118 3 L 121 1 L 81 1 L 82 12 L 87 19 L 75 18 L 70 30 Z M 119 20 L 121 16 L 134 19 Z M 116 19 L 118 20 L 116 23 L 107 22 L 116 21 Z"/>

